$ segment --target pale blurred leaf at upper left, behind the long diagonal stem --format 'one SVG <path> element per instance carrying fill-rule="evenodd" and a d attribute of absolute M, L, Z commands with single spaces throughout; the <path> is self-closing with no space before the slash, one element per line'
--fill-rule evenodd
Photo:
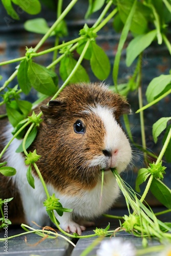
<path fill-rule="evenodd" d="M 24 28 L 27 31 L 38 33 L 38 34 L 46 34 L 50 29 L 46 19 L 44 18 L 29 19 L 27 20 L 27 22 L 25 22 Z M 54 31 L 51 33 L 51 36 L 52 35 L 55 35 Z"/>

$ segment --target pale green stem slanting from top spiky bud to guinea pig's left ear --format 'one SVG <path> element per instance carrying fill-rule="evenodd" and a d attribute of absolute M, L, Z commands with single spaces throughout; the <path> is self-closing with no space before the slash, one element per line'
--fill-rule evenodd
<path fill-rule="evenodd" d="M 90 45 L 90 41 L 91 39 L 88 39 L 88 41 L 86 42 L 86 45 L 84 46 L 84 49 L 82 50 L 82 53 L 74 67 L 74 69 L 72 70 L 72 72 L 70 73 L 70 75 L 68 76 L 68 78 L 65 80 L 65 82 L 62 84 L 62 86 L 60 87 L 60 89 L 57 91 L 57 93 L 52 97 L 52 100 L 57 98 L 57 96 L 59 95 L 59 93 L 67 86 L 67 84 L 69 83 L 70 79 L 72 78 L 72 76 L 75 74 L 75 72 L 77 71 L 84 55 L 86 54 L 86 51 Z"/>

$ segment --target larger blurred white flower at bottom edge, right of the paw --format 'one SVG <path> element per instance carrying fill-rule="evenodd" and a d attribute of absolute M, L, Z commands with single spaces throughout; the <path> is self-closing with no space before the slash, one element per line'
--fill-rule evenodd
<path fill-rule="evenodd" d="M 129 241 L 121 238 L 103 240 L 97 250 L 97 256 L 135 256 L 136 249 Z"/>

